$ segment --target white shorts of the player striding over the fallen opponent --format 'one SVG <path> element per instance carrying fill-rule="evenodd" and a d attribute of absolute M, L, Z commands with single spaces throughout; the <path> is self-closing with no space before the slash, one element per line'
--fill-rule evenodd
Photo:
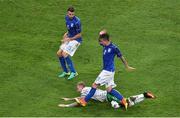
<path fill-rule="evenodd" d="M 102 70 L 101 73 L 96 78 L 95 83 L 99 84 L 100 86 L 105 85 L 106 88 L 110 86 L 114 88 L 116 87 L 116 84 L 114 83 L 114 74 L 115 72 Z"/>

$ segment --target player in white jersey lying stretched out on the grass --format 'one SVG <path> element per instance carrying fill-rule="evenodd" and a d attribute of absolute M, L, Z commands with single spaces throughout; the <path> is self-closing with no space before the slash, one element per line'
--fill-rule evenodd
<path fill-rule="evenodd" d="M 89 91 L 91 90 L 91 87 L 86 87 L 84 82 L 79 82 L 76 86 L 77 88 L 77 92 L 79 92 L 81 95 L 80 97 L 75 97 L 75 98 L 62 98 L 65 101 L 75 101 L 71 104 L 59 104 L 59 107 L 76 107 L 76 106 L 80 106 L 78 102 L 76 102 L 76 100 L 78 98 L 82 98 L 84 96 L 86 96 Z M 131 107 L 137 103 L 140 103 L 142 101 L 144 101 L 146 98 L 155 98 L 155 96 L 150 93 L 150 92 L 144 92 L 142 94 L 139 95 L 134 95 L 131 97 L 128 97 L 126 99 L 128 106 Z M 95 94 L 92 96 L 93 100 L 96 101 L 100 101 L 100 102 L 109 102 L 111 103 L 113 108 L 119 108 L 119 106 L 122 106 L 121 102 L 113 95 L 109 94 L 107 91 L 103 91 L 101 89 L 97 89 Z M 117 104 L 113 104 L 113 103 L 117 103 Z"/>

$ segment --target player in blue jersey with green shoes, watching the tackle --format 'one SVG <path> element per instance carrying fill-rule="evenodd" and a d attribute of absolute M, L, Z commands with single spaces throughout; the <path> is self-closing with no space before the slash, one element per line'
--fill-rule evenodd
<path fill-rule="evenodd" d="M 62 44 L 57 52 L 63 72 L 58 77 L 69 76 L 68 79 L 70 80 L 78 75 L 70 56 L 72 57 L 74 55 L 82 42 L 81 22 L 75 16 L 75 9 L 73 7 L 68 8 L 65 21 L 67 32 L 64 34 Z"/>

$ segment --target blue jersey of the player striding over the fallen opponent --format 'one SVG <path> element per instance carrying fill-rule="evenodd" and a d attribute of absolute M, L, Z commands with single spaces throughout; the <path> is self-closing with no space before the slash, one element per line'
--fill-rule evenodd
<path fill-rule="evenodd" d="M 115 71 L 114 67 L 114 57 L 117 55 L 117 57 L 121 57 L 122 54 L 119 50 L 119 48 L 111 43 L 108 46 L 104 46 L 103 49 L 103 70 Z"/>

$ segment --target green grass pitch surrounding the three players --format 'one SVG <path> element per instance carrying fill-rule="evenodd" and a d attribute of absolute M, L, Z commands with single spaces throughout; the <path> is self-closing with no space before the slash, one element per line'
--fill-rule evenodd
<path fill-rule="evenodd" d="M 83 43 L 73 61 L 79 76 L 57 78 L 56 51 L 76 8 Z M 180 116 L 180 0 L 0 0 L 0 116 Z M 116 59 L 124 96 L 152 91 L 157 99 L 114 110 L 107 103 L 58 108 L 78 81 L 91 85 L 101 71 L 98 32 L 106 28 L 135 72 Z"/>

